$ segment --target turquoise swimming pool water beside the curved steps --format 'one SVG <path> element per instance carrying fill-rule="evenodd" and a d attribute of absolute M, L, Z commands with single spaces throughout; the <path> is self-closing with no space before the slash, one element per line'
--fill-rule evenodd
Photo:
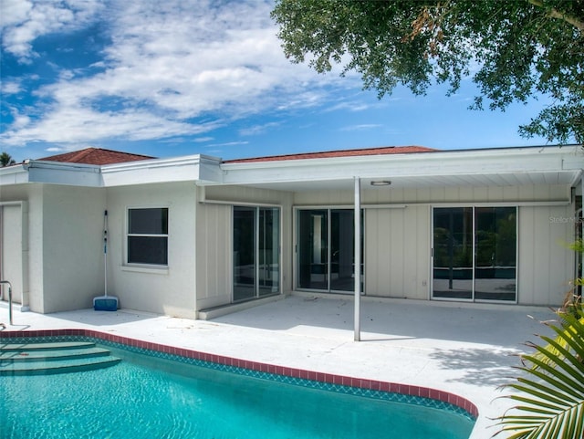
<path fill-rule="evenodd" d="M 342 385 L 98 341 L 123 361 L 0 378 L 0 437 L 466 439 L 474 425 L 454 404 L 375 390 L 375 382 Z"/>

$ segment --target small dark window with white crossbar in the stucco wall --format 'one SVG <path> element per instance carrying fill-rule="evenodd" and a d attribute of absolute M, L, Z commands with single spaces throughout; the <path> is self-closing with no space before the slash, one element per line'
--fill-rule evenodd
<path fill-rule="evenodd" d="M 128 263 L 168 265 L 168 208 L 128 209 Z"/>

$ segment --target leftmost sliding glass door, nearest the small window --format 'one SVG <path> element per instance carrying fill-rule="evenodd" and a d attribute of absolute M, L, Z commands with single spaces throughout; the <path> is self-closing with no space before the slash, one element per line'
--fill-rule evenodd
<path fill-rule="evenodd" d="M 280 210 L 234 206 L 234 302 L 280 289 Z"/>

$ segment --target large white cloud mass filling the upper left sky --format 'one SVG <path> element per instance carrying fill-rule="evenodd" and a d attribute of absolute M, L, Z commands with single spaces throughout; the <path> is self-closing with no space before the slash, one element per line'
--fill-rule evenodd
<path fill-rule="evenodd" d="M 16 5 L 7 2 L 7 8 Z M 87 26 L 99 10 L 93 0 L 24 3 L 14 6 L 3 34 L 6 49 L 22 59 L 34 55 L 36 37 Z M 210 131 L 266 109 L 318 106 L 327 99 L 322 87 L 339 78 L 287 60 L 269 17 L 272 7 L 259 0 L 114 0 L 99 16 L 108 17 L 104 27 L 112 41 L 103 59 L 92 61 L 99 73 L 61 70 L 57 82 L 36 90 L 49 102 L 41 119 L 12 125 L 0 139 L 13 145 L 158 140 Z M 198 118 L 205 122 L 193 123 Z"/>

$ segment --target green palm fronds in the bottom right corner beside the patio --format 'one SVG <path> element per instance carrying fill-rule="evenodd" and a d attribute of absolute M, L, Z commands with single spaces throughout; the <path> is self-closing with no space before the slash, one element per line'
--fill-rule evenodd
<path fill-rule="evenodd" d="M 582 279 L 577 279 L 581 283 Z M 536 351 L 521 356 L 524 374 L 508 384 L 518 393 L 506 396 L 517 404 L 496 418 L 495 433 L 508 439 L 581 439 L 584 437 L 584 306 L 575 296 L 558 310 L 560 323 L 545 322 L 555 339 L 528 346 Z"/>

